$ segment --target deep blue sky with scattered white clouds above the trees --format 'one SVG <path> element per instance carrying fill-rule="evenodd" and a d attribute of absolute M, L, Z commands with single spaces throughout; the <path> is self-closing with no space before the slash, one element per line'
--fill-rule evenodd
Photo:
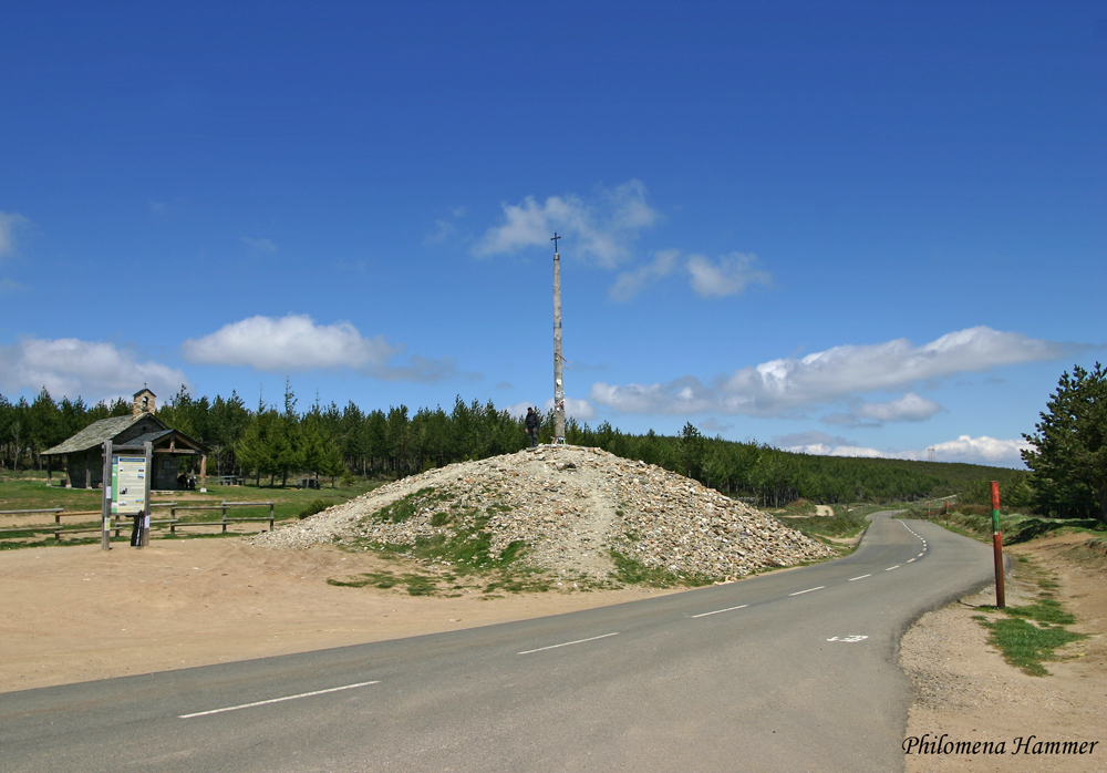
<path fill-rule="evenodd" d="M 0 392 L 552 398 L 1020 465 L 1103 359 L 1107 3 L 7 3 Z"/>

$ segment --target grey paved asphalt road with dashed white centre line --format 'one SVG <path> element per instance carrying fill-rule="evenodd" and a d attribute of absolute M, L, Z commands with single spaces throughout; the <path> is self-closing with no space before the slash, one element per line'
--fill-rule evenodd
<path fill-rule="evenodd" d="M 879 514 L 853 555 L 434 636 L 0 694 L 0 771 L 898 771 L 900 636 L 991 550 Z"/>

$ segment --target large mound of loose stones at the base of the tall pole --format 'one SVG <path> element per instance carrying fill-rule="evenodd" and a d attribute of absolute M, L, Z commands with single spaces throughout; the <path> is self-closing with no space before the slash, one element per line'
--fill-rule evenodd
<path fill-rule="evenodd" d="M 835 555 L 826 545 L 691 478 L 600 449 L 540 446 L 396 481 L 258 535 L 269 547 L 414 546 L 484 539 L 493 559 L 606 579 L 617 550 L 650 568 L 737 578 Z"/>

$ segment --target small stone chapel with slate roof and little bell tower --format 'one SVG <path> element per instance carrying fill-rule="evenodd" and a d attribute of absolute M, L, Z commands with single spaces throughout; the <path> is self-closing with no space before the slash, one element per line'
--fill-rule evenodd
<path fill-rule="evenodd" d="M 46 458 L 46 485 L 53 485 L 55 463 L 65 470 L 66 488 L 99 488 L 104 476 L 104 441 L 112 441 L 113 451 L 141 453 L 148 441 L 154 451 L 154 477 L 151 488 L 174 491 L 182 456 L 199 456 L 199 488 L 207 488 L 208 447 L 183 432 L 166 426 L 156 415 L 155 395 L 148 389 L 135 392 L 130 416 L 101 419 L 52 449 L 42 452 Z"/>

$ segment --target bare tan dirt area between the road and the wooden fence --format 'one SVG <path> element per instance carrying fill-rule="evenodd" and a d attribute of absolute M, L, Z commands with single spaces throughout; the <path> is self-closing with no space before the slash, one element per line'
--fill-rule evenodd
<path fill-rule="evenodd" d="M 413 597 L 327 578 L 396 561 L 330 546 L 155 540 L 0 553 L 0 691 L 206 666 L 587 609 L 665 591 Z"/>

